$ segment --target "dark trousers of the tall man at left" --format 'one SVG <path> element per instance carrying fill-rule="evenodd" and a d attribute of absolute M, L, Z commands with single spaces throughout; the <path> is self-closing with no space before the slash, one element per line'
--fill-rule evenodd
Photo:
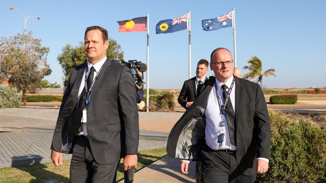
<path fill-rule="evenodd" d="M 86 136 L 77 136 L 70 164 L 70 182 L 115 182 L 118 162 L 97 163 Z"/>

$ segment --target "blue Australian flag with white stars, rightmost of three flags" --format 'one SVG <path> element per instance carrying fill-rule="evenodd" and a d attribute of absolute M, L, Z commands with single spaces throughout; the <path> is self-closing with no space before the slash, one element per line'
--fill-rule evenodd
<path fill-rule="evenodd" d="M 224 14 L 217 18 L 204 19 L 202 20 L 203 30 L 210 31 L 210 30 L 217 30 L 220 28 L 232 26 L 232 18 L 233 18 L 233 13 L 231 11 L 228 14 Z"/>

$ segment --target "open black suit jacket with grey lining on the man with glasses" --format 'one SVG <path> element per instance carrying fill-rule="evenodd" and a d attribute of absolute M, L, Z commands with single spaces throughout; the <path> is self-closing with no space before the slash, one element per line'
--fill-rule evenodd
<path fill-rule="evenodd" d="M 172 128 L 167 145 L 170 156 L 196 160 L 205 143 L 205 107 L 215 77 L 204 83 L 201 94 Z M 260 86 L 235 77 L 236 158 L 242 169 L 252 168 L 254 159 L 269 159 L 270 120 Z"/>

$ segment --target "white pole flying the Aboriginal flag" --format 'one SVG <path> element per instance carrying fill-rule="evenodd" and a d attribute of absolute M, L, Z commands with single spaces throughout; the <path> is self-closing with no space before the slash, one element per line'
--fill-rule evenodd
<path fill-rule="evenodd" d="M 147 21 L 146 21 L 146 37 L 147 37 L 147 45 L 146 45 L 146 63 L 147 63 L 147 73 L 146 73 L 146 112 L 149 111 L 149 13 L 147 13 Z"/>

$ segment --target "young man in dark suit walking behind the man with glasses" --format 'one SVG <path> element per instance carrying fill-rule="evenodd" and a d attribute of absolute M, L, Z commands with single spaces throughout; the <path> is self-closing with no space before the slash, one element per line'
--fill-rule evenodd
<path fill-rule="evenodd" d="M 184 82 L 180 91 L 178 102 L 186 109 L 195 101 L 198 86 L 205 82 L 206 72 L 208 71 L 208 61 L 201 59 L 197 63 L 196 76 Z"/>

